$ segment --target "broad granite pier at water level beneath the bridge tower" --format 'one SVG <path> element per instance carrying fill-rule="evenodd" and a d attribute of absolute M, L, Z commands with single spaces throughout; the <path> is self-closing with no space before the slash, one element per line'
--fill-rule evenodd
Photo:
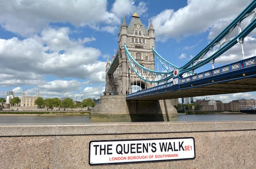
<path fill-rule="evenodd" d="M 177 121 L 171 100 L 126 100 L 125 95 L 101 96 L 90 115 L 96 123 Z"/>

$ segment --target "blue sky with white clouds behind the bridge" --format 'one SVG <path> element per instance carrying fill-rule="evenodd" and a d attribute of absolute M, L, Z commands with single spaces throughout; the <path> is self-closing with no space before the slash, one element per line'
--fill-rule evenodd
<path fill-rule="evenodd" d="M 123 14 L 155 29 L 155 47 L 183 66 L 214 39 L 251 0 L 0 0 L 0 97 L 13 90 L 44 98 L 98 98 L 105 65 L 117 49 Z M 244 23 L 246 24 L 246 23 Z M 245 57 L 256 55 L 256 32 L 245 39 Z M 241 60 L 236 45 L 215 67 Z M 157 65 L 157 64 L 156 64 Z M 157 68 L 156 68 L 157 69 Z M 195 72 L 211 69 L 207 64 Z M 210 96 L 228 102 L 254 92 Z M 203 97 L 197 97 L 203 98 Z"/>

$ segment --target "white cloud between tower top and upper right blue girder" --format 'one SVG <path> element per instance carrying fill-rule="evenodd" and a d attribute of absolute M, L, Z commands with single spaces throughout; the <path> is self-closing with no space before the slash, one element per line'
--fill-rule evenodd
<path fill-rule="evenodd" d="M 165 9 L 152 17 L 156 40 L 180 39 L 208 31 L 219 20 L 237 16 L 251 0 L 188 0 L 177 11 Z"/>

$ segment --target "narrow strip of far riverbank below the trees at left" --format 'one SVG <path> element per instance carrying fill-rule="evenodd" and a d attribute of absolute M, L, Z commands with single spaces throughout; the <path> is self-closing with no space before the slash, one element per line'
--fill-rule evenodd
<path fill-rule="evenodd" d="M 76 111 L 76 112 L 56 112 L 56 111 L 0 111 L 0 116 L 72 116 L 72 115 L 90 115 L 90 111 Z"/>

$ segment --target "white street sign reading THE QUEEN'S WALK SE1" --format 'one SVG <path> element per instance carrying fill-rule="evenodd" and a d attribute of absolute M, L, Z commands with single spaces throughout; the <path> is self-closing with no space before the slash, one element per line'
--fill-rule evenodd
<path fill-rule="evenodd" d="M 194 137 L 95 140 L 89 143 L 90 165 L 189 159 L 195 159 Z"/>

